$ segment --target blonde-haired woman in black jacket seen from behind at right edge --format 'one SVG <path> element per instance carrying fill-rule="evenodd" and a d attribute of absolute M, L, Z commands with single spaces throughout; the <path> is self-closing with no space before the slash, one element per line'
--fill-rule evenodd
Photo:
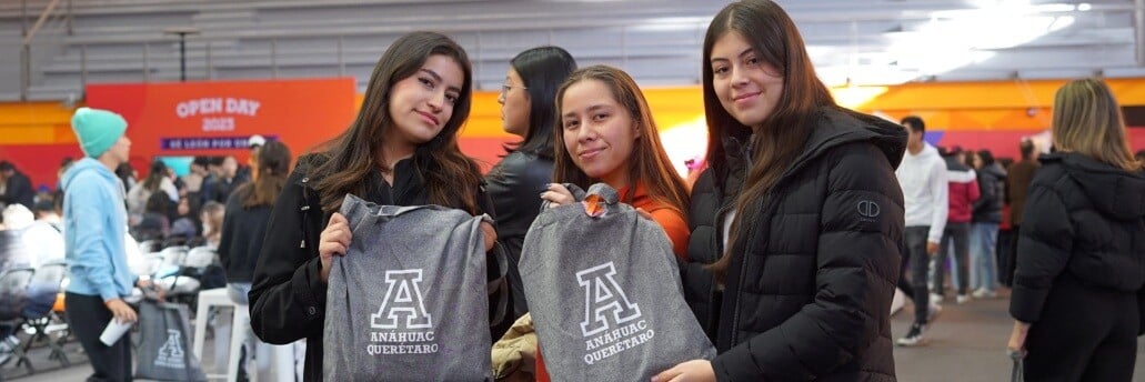
<path fill-rule="evenodd" d="M 1100 80 L 1058 89 L 1052 134 L 1021 217 L 1009 348 L 1028 351 L 1029 381 L 1129 381 L 1145 328 L 1145 172 Z"/>

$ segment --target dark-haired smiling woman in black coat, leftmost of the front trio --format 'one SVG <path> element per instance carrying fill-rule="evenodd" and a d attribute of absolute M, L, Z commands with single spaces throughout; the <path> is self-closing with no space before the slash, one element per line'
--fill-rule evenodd
<path fill-rule="evenodd" d="M 254 271 L 251 324 L 260 339 L 307 339 L 306 381 L 322 380 L 326 280 L 349 247 L 338 213 L 347 194 L 379 205 L 440 205 L 491 213 L 481 173 L 457 135 L 472 101 L 469 58 L 434 32 L 402 35 L 386 49 L 357 118 L 323 150 L 299 159 L 271 213 Z M 485 249 L 496 233 L 482 223 Z"/>

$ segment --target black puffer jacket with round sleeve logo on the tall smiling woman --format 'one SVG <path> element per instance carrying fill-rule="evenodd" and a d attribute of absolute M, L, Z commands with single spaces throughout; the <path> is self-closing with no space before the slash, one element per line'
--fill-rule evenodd
<path fill-rule="evenodd" d="M 818 118 L 773 197 L 751 207 L 763 218 L 743 222 L 742 239 L 729 244 L 724 297 L 709 302 L 720 381 L 895 380 L 890 310 L 903 207 L 894 168 L 907 133 L 837 109 Z M 719 253 L 719 233 L 700 237 L 705 241 L 689 249 Z M 712 285 L 695 263 L 687 265 L 685 282 Z M 702 297 L 700 288 L 687 286 L 686 297 Z"/>

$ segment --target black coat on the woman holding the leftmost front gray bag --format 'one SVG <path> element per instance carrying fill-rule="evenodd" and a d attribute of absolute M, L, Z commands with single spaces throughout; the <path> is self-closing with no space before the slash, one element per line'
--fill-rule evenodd
<path fill-rule="evenodd" d="M 394 166 L 394 186 L 379 172 L 363 180 L 368 193 L 362 199 L 379 205 L 419 206 L 428 204 L 428 190 L 418 172 L 428 158 L 398 161 Z M 306 339 L 305 381 L 322 381 L 323 325 L 326 307 L 326 282 L 319 274 L 318 239 L 331 214 L 322 212 L 318 192 L 308 173 L 319 166 L 317 156 L 299 159 L 286 186 L 275 202 L 267 225 L 254 280 L 251 288 L 251 326 L 264 342 L 287 344 Z M 421 168 L 416 170 L 416 168 Z M 477 197 L 479 208 L 492 215 L 484 194 Z M 491 273 L 497 272 L 495 269 Z"/>

